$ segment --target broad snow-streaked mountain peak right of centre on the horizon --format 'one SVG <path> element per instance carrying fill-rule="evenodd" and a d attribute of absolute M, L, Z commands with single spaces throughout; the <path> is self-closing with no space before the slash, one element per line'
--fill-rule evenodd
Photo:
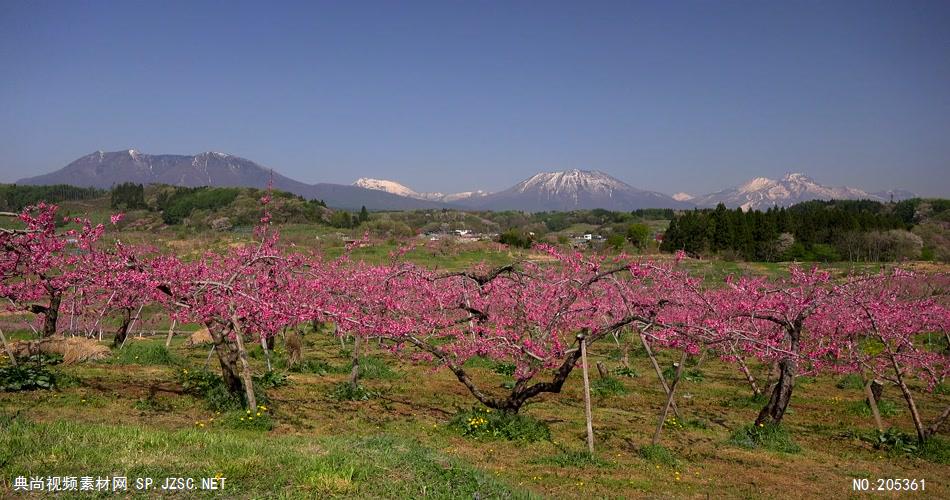
<path fill-rule="evenodd" d="M 541 172 L 498 193 L 460 200 L 466 206 L 488 210 L 578 210 L 604 208 L 683 208 L 689 205 L 653 191 L 634 188 L 597 170 Z"/>

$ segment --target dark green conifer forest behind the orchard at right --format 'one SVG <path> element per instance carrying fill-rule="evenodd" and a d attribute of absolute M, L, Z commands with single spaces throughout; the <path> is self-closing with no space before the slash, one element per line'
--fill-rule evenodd
<path fill-rule="evenodd" d="M 746 260 L 950 259 L 950 200 L 809 201 L 767 211 L 693 210 L 670 221 L 661 249 Z"/>

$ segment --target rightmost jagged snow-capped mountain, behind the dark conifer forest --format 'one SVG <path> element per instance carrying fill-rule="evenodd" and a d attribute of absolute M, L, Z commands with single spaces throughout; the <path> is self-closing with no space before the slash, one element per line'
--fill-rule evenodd
<path fill-rule="evenodd" d="M 899 193 L 912 196 L 912 193 Z M 689 200 L 689 203 L 699 207 L 714 207 L 722 203 L 729 208 L 766 210 L 773 206 L 789 206 L 809 200 L 889 201 L 889 198 L 889 195 L 885 199 L 877 194 L 847 186 L 824 186 L 805 174 L 791 173 L 781 179 L 756 177 L 736 188 L 698 196 Z"/>

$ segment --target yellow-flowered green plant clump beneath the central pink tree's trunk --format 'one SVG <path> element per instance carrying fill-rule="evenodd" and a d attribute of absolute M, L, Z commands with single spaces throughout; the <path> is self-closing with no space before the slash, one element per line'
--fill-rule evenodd
<path fill-rule="evenodd" d="M 458 412 L 449 427 L 475 439 L 535 442 L 551 439 L 547 424 L 518 413 L 474 407 Z"/>

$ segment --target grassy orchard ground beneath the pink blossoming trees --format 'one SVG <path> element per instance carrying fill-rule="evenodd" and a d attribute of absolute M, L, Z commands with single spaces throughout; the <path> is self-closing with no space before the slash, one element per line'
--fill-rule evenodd
<path fill-rule="evenodd" d="M 681 384 L 682 418 L 668 422 L 661 447 L 651 447 L 662 389 L 648 359 L 635 355 L 636 373 L 627 375 L 637 376 L 594 384 L 596 452 L 589 456 L 579 373 L 561 394 L 522 410 L 549 438 L 473 439 L 452 422 L 474 400 L 448 371 L 371 352 L 367 399 L 339 400 L 348 350 L 325 335 L 304 339 L 305 371 L 266 389 L 266 410 L 253 423 L 241 420 L 252 415 L 184 393 L 184 372 L 200 371 L 208 350 L 182 347 L 182 338 L 168 352 L 162 340 L 133 340 L 130 353 L 57 366 L 59 390 L 0 393 L 0 491 L 9 493 L 20 475 L 124 475 L 220 476 L 226 489 L 217 494 L 239 498 L 788 498 L 850 495 L 853 479 L 916 478 L 926 480 L 928 497 L 950 496 L 945 440 L 926 453 L 874 449 L 862 439 L 873 424 L 859 410 L 861 390 L 829 377 L 799 380 L 787 435 L 763 441 L 773 450 L 748 448 L 741 429 L 761 402 L 734 367 L 707 359 Z M 594 347 L 592 361 L 617 366 L 612 341 Z M 281 351 L 274 362 L 283 373 Z M 260 347 L 251 354 L 263 374 Z M 491 362 L 469 365 L 497 391 L 510 380 Z M 765 368 L 756 370 L 764 379 Z M 896 389 L 884 399 L 894 409 L 888 424 L 910 432 Z M 928 416 L 947 403 L 945 393 L 920 401 Z"/>

